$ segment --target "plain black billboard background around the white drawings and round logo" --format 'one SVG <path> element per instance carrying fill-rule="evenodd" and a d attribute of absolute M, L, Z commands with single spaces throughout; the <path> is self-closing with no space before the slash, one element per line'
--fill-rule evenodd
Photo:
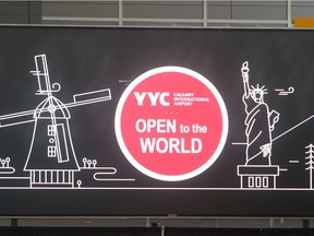
<path fill-rule="evenodd" d="M 313 143 L 314 120 L 274 142 L 273 164 L 289 169 L 280 172 L 277 190 L 239 189 L 237 165 L 245 163 L 245 150 L 231 144 L 245 140 L 244 61 L 250 62 L 252 84 L 265 85 L 266 103 L 280 113 L 273 137 L 314 114 L 313 37 L 314 32 L 302 30 L 2 26 L 0 115 L 34 109 L 41 102 L 29 71 L 35 70 L 34 56 L 46 54 L 50 80 L 61 84 L 56 96 L 63 103 L 72 102 L 77 93 L 111 90 L 109 102 L 71 108 L 80 165 L 83 157 L 96 158 L 99 166 L 113 166 L 121 177 L 136 181 L 106 182 L 102 187 L 112 189 L 101 190 L 0 189 L 0 215 L 313 216 L 314 192 L 309 189 L 304 146 Z M 119 81 L 132 81 L 164 66 L 189 68 L 210 80 L 229 115 L 229 134 L 219 158 L 200 176 L 179 182 L 155 180 L 137 172 L 121 153 L 114 134 L 116 107 L 126 87 Z M 294 87 L 293 95 L 278 96 L 274 91 L 289 86 Z M 31 122 L 0 129 L 0 157 L 11 157 L 16 176 L 25 176 L 33 128 Z"/>

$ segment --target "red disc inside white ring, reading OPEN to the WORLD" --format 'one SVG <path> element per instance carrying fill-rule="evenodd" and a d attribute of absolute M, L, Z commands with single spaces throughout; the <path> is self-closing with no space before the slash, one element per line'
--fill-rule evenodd
<path fill-rule="evenodd" d="M 132 163 L 171 179 L 217 158 L 226 139 L 221 101 L 217 91 L 184 70 L 142 78 L 128 91 L 118 123 Z"/>

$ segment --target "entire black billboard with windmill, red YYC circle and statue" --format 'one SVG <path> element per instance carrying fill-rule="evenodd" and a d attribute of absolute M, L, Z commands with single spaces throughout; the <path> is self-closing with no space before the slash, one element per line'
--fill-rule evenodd
<path fill-rule="evenodd" d="M 313 216 L 313 31 L 0 27 L 1 216 Z"/>

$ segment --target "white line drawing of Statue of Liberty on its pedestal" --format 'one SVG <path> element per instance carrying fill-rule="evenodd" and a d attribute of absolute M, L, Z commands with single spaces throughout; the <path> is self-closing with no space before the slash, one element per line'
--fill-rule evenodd
<path fill-rule="evenodd" d="M 249 62 L 242 64 L 244 94 L 242 101 L 245 106 L 245 164 L 238 166 L 241 177 L 241 188 L 276 188 L 276 177 L 279 166 L 271 165 L 271 131 L 279 120 L 276 110 L 269 111 L 264 101 L 267 94 L 265 86 L 250 85 Z"/>

